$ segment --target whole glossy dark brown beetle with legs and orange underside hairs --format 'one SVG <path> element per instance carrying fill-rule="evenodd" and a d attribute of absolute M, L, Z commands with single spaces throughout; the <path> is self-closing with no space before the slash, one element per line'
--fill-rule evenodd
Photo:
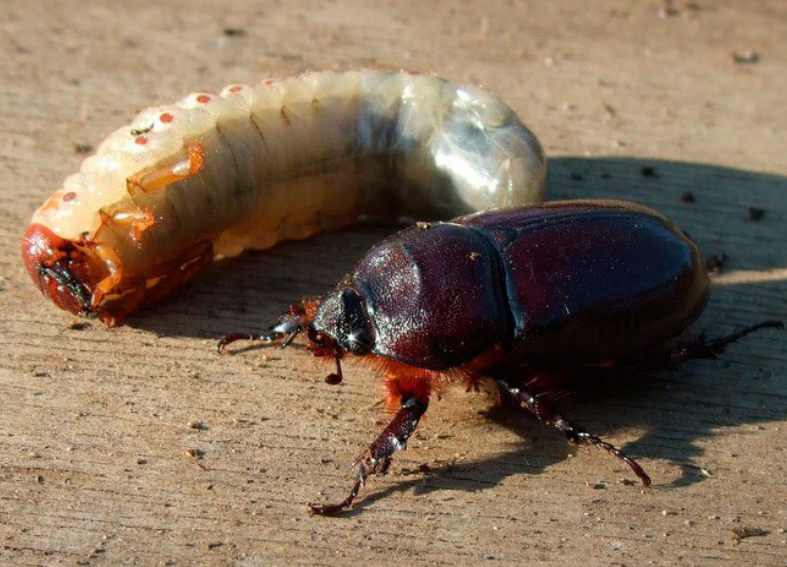
<path fill-rule="evenodd" d="M 290 309 L 262 335 L 284 346 L 305 331 L 316 356 L 377 357 L 386 373 L 391 423 L 359 458 L 352 504 L 368 475 L 384 472 L 445 384 L 482 379 L 554 425 L 650 478 L 619 449 L 555 411 L 550 393 L 600 372 L 675 368 L 713 358 L 764 321 L 714 340 L 679 342 L 705 308 L 709 280 L 699 251 L 655 211 L 620 201 L 563 201 L 469 215 L 404 230 L 372 248 L 337 289 Z M 588 378 L 590 379 L 590 378 Z"/>

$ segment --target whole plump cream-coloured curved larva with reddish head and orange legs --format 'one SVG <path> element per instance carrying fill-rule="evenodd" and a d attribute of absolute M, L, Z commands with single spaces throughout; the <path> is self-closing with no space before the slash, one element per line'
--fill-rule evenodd
<path fill-rule="evenodd" d="M 533 203 L 545 176 L 536 137 L 480 88 L 307 73 L 142 111 L 35 212 L 22 255 L 57 306 L 114 325 L 214 258 L 361 216 Z"/>

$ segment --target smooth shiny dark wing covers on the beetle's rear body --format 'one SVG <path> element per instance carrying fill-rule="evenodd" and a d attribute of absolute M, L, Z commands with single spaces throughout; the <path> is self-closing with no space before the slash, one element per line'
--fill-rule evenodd
<path fill-rule="evenodd" d="M 458 222 L 499 253 L 515 359 L 620 360 L 676 336 L 707 302 L 697 247 L 633 203 L 554 202 Z"/>

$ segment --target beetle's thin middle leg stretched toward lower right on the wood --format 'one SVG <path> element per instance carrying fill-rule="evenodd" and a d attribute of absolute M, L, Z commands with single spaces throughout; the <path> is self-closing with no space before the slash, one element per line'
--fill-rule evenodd
<path fill-rule="evenodd" d="M 629 467 L 631 467 L 631 470 L 634 471 L 634 474 L 636 474 L 642 481 L 643 486 L 650 486 L 650 477 L 647 475 L 647 473 L 634 459 L 626 455 L 623 451 L 614 445 L 607 443 L 606 441 L 602 441 L 597 435 L 588 433 L 583 427 L 574 425 L 568 419 L 555 411 L 552 406 L 550 406 L 549 403 L 543 398 L 539 398 L 538 396 L 531 394 L 523 388 L 512 386 L 511 383 L 504 378 L 496 378 L 495 381 L 501 390 L 511 396 L 520 407 L 535 415 L 541 423 L 546 425 L 554 425 L 558 431 L 565 435 L 566 438 L 572 443 L 590 443 L 599 449 L 604 449 L 605 451 L 612 453 L 618 459 L 621 459 Z"/>

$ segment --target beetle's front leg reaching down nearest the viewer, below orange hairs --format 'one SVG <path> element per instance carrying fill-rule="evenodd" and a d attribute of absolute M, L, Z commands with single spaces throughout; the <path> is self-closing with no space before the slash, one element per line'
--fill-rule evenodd
<path fill-rule="evenodd" d="M 358 459 L 358 475 L 347 498 L 338 504 L 325 506 L 309 504 L 309 513 L 333 516 L 345 508 L 349 508 L 355 497 L 358 496 L 361 487 L 366 483 L 368 476 L 377 473 L 385 474 L 388 465 L 391 463 L 391 455 L 405 448 L 407 440 L 415 431 L 418 421 L 424 415 L 428 406 L 428 399 L 407 398 L 402 400 L 402 407 L 391 420 L 391 423 Z"/>

